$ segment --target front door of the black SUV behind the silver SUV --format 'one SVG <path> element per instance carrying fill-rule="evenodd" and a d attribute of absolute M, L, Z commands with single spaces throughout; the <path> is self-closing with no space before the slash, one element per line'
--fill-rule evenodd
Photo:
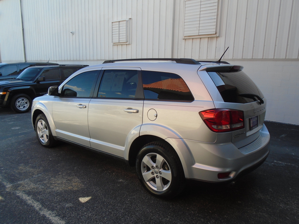
<path fill-rule="evenodd" d="M 39 77 L 45 77 L 44 81 L 38 81 Z M 62 83 L 59 68 L 49 68 L 43 70 L 38 77 L 36 77 L 37 83 L 35 91 L 36 96 L 42 96 L 48 93 L 50 86 L 59 86 Z"/>

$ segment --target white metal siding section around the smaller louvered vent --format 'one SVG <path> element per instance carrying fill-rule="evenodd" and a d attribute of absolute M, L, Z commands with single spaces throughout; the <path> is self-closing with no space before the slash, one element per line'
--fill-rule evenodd
<path fill-rule="evenodd" d="M 173 4 L 173 0 L 22 0 L 27 60 L 171 57 Z M 132 44 L 112 45 L 111 22 L 128 18 L 132 18 Z"/>

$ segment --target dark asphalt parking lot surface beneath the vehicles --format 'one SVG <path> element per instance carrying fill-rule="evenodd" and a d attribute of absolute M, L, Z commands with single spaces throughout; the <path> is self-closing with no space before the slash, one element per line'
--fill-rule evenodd
<path fill-rule="evenodd" d="M 299 126 L 266 122 L 270 154 L 230 184 L 148 194 L 135 167 L 67 143 L 42 147 L 31 114 L 0 108 L 0 223 L 299 223 Z"/>

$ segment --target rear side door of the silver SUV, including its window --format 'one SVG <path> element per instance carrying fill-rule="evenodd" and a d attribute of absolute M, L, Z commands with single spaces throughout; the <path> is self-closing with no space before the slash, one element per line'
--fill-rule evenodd
<path fill-rule="evenodd" d="M 102 68 L 101 82 L 89 102 L 92 148 L 124 157 L 126 139 L 139 133 L 143 114 L 140 68 Z"/>

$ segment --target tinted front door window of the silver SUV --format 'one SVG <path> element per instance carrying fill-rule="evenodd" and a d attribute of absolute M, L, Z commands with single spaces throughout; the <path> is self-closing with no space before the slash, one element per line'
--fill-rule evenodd
<path fill-rule="evenodd" d="M 63 86 L 62 96 L 91 97 L 92 88 L 96 82 L 99 71 L 83 72 Z"/>

